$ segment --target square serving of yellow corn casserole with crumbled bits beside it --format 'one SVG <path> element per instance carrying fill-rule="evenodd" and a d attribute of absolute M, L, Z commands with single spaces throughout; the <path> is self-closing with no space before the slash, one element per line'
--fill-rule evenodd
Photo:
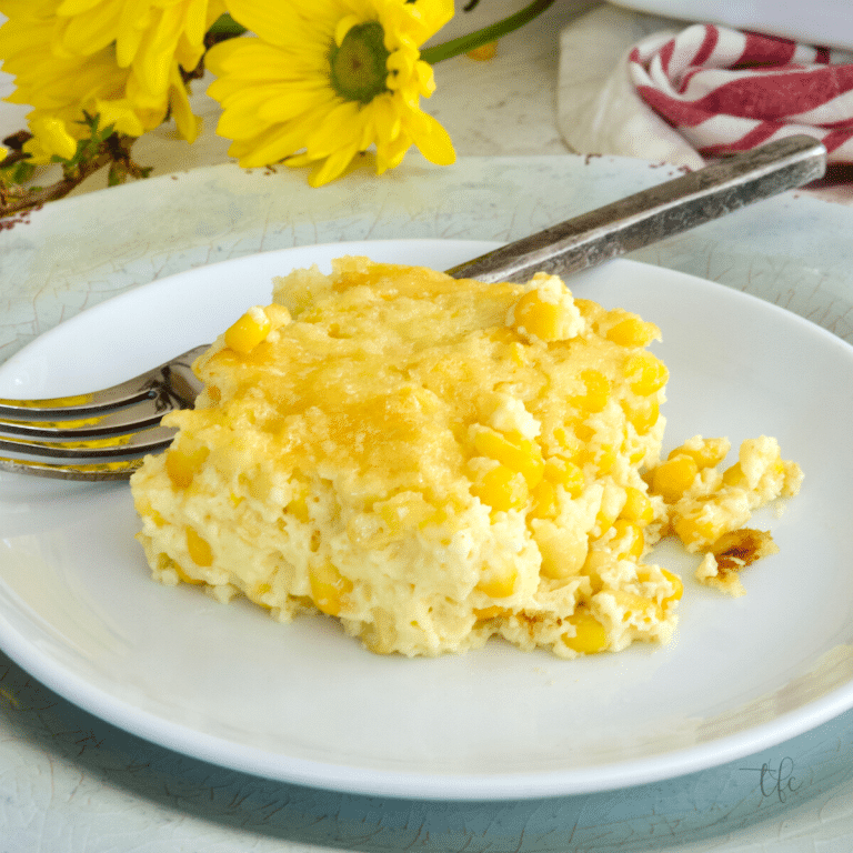
<path fill-rule="evenodd" d="M 719 439 L 661 461 L 659 338 L 545 274 L 344 258 L 279 279 L 199 359 L 197 408 L 131 481 L 153 574 L 281 621 L 319 610 L 380 653 L 665 642 L 683 586 L 650 548 L 674 532 L 737 594 L 762 554 L 714 545 L 802 474 L 765 438 L 724 471 Z"/>

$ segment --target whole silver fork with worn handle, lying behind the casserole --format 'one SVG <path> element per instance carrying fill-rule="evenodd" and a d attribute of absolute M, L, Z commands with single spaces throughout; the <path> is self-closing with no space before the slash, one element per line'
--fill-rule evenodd
<path fill-rule="evenodd" d="M 821 178 L 826 150 L 796 136 L 643 190 L 448 270 L 454 278 L 526 281 L 598 265 Z M 192 407 L 197 347 L 119 385 L 52 400 L 0 399 L 0 470 L 66 480 L 126 480 L 169 445 L 167 412 Z"/>

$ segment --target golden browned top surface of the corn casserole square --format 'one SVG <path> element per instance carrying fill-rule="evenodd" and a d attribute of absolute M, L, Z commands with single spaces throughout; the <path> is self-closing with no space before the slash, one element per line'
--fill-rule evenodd
<path fill-rule="evenodd" d="M 197 365 L 199 410 L 174 415 L 214 464 L 240 453 L 242 470 L 318 472 L 357 502 L 417 491 L 434 505 L 470 501 L 513 449 L 534 488 L 550 458 L 596 461 L 582 449 L 595 418 L 625 436 L 611 455 L 656 420 L 665 369 L 643 351 L 656 328 L 550 277 L 483 284 L 351 258 L 280 280 L 275 298 L 289 311 L 247 314 L 261 340 L 227 334 Z"/>

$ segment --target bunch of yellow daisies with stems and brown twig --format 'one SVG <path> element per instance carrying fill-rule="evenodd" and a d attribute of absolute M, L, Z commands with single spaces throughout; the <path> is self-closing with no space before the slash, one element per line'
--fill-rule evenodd
<path fill-rule="evenodd" d="M 448 132 L 420 106 L 435 89 L 432 64 L 489 56 L 552 2 L 421 50 L 453 18 L 453 0 L 0 0 L 8 100 L 32 108 L 28 130 L 0 151 L 0 215 L 61 198 L 101 168 L 110 184 L 145 177 L 133 141 L 173 119 L 192 142 L 191 84 L 205 70 L 222 107 L 217 132 L 242 167 L 311 167 L 320 187 L 369 149 L 379 174 L 412 145 L 452 163 Z M 33 187 L 48 163 L 62 179 Z"/>

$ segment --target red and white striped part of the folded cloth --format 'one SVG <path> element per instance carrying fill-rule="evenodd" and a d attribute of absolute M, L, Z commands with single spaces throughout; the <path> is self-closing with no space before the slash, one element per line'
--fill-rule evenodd
<path fill-rule="evenodd" d="M 830 162 L 853 162 L 853 54 L 845 51 L 694 24 L 664 43 L 638 44 L 629 73 L 703 155 L 810 133 Z"/>

